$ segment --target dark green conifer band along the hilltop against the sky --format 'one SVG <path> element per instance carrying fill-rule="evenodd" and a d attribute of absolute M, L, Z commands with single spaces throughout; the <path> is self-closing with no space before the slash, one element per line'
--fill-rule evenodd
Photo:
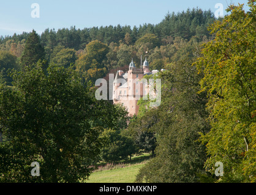
<path fill-rule="evenodd" d="M 165 18 L 156 25 L 143 24 L 139 27 L 131 26 L 101 26 L 85 29 L 46 29 L 41 35 L 41 43 L 43 46 L 53 48 L 61 44 L 67 48 L 72 49 L 85 49 L 86 44 L 92 40 L 99 40 L 103 43 L 110 44 L 119 43 L 124 40 L 126 34 L 129 34 L 131 40 L 128 44 L 134 44 L 138 38 L 145 34 L 155 34 L 160 40 L 163 38 L 183 37 L 190 39 L 194 36 L 200 37 L 202 35 L 209 35 L 207 27 L 214 21 L 214 14 L 210 10 L 203 11 L 201 9 L 187 9 L 186 12 L 167 13 Z M 23 39 L 26 40 L 28 32 L 23 34 L 9 37 L 1 37 L 1 44 L 6 43 L 8 40 L 18 43 Z"/>

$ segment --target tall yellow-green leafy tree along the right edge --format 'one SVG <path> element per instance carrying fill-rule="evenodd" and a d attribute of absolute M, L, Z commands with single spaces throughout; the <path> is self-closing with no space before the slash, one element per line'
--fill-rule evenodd
<path fill-rule="evenodd" d="M 201 91 L 208 93 L 211 131 L 202 135 L 209 158 L 206 168 L 224 164 L 219 182 L 255 182 L 256 154 L 256 32 L 255 1 L 230 5 L 230 15 L 211 27 L 215 38 L 204 44 L 203 57 L 195 63 L 204 73 Z"/>

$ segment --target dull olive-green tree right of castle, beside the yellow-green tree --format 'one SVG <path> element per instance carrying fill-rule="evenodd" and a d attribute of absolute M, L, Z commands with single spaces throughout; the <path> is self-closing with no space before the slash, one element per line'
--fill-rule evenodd
<path fill-rule="evenodd" d="M 207 99 L 206 93 L 197 94 L 202 74 L 198 75 L 192 66 L 194 60 L 185 53 L 183 59 L 171 63 L 158 76 L 162 79 L 161 104 L 146 107 L 138 124 L 155 133 L 156 157 L 140 169 L 137 182 L 191 183 L 205 174 L 206 150 L 198 139 L 200 132 L 209 130 L 205 120 Z"/>

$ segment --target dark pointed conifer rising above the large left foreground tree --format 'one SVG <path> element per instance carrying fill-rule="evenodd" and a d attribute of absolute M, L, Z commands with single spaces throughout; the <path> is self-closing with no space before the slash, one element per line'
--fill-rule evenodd
<path fill-rule="evenodd" d="M 26 66 L 33 67 L 39 60 L 45 60 L 45 49 L 40 44 L 39 35 L 37 35 L 35 30 L 32 30 L 31 34 L 26 40 L 20 63 L 22 68 Z M 44 63 L 44 68 L 47 68 L 47 63 Z"/>

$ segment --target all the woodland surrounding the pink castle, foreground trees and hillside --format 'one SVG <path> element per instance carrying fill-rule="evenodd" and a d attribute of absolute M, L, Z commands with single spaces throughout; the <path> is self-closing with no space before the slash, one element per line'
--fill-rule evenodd
<path fill-rule="evenodd" d="M 255 182 L 255 1 L 167 13 L 156 25 L 35 30 L 0 38 L 0 182 L 80 182 L 140 152 L 137 182 Z M 165 69 L 162 102 L 137 116 L 94 83 L 131 59 Z M 31 162 L 40 163 L 32 177 Z M 216 175 L 215 163 L 224 165 Z M 14 174 L 17 173 L 18 174 Z"/>

